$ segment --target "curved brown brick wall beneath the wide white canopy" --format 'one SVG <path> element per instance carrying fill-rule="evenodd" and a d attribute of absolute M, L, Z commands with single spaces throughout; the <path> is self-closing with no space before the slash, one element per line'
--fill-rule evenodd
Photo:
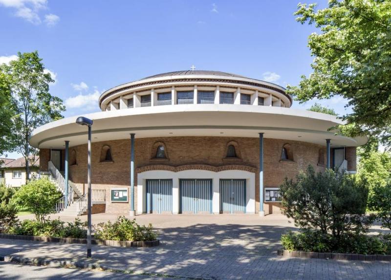
<path fill-rule="evenodd" d="M 227 144 L 235 141 L 239 158 L 227 158 Z M 326 142 L 326 141 L 325 141 Z M 156 143 L 163 143 L 168 159 L 154 158 Z M 284 144 L 290 144 L 293 161 L 282 161 Z M 72 143 L 70 143 L 72 145 Z M 100 162 L 101 149 L 109 145 L 112 161 Z M 326 143 L 325 143 L 326 145 Z M 238 151 L 239 149 L 239 151 Z M 278 187 L 285 177 L 292 178 L 311 164 L 317 171 L 319 150 L 326 156 L 326 147 L 300 141 L 264 139 L 264 187 Z M 87 145 L 70 147 L 76 151 L 76 164 L 69 167 L 69 178 L 81 190 L 87 186 Z M 355 147 L 347 148 L 348 169 L 355 170 Z M 47 149 L 40 151 L 41 171 L 47 170 Z M 326 162 L 326 158 L 324 160 Z M 259 139 L 244 137 L 162 137 L 135 139 L 135 176 L 149 170 L 170 170 L 174 172 L 196 169 L 218 172 L 220 170 L 245 170 L 255 172 L 256 209 L 259 209 Z M 137 178 L 135 178 L 135 183 Z M 106 212 L 127 214 L 128 203 L 111 203 L 110 188 L 125 188 L 130 185 L 130 139 L 92 143 L 92 188 L 106 190 Z M 135 209 L 137 209 L 137 188 Z M 278 203 L 264 203 L 266 213 L 278 212 Z"/>

